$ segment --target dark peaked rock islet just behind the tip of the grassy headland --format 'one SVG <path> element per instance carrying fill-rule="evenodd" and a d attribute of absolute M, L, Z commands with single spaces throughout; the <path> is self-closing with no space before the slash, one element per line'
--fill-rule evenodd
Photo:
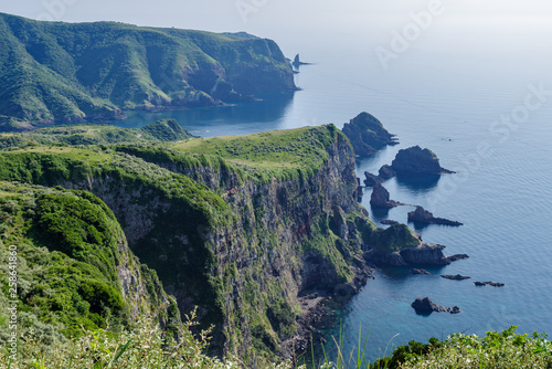
<path fill-rule="evenodd" d="M 386 145 L 396 145 L 394 135 L 391 135 L 378 118 L 361 113 L 350 123 L 346 123 L 342 129 L 354 148 L 354 154 L 359 158 L 374 155 Z"/>

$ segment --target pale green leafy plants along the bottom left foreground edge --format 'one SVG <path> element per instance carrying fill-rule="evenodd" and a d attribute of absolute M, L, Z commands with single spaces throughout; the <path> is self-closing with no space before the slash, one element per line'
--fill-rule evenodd
<path fill-rule="evenodd" d="M 10 361 L 6 350 L 0 351 L 0 368 L 242 368 L 237 360 L 220 360 L 205 355 L 210 329 L 194 336 L 191 329 L 198 325 L 195 318 L 194 312 L 187 316 L 179 341 L 166 337 L 155 321 L 142 321 L 138 328 L 121 333 L 84 331 L 81 338 L 52 346 L 44 346 L 41 337 L 31 333 L 21 337 L 17 362 Z"/>

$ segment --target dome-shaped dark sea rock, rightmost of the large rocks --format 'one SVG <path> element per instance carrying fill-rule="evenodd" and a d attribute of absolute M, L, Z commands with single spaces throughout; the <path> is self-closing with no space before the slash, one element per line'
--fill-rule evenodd
<path fill-rule="evenodd" d="M 442 168 L 437 156 L 420 146 L 399 150 L 391 168 L 397 176 L 404 175 L 444 175 L 453 171 Z"/>

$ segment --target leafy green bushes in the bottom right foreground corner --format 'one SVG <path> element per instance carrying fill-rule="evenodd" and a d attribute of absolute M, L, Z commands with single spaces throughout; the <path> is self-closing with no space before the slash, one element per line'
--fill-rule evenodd
<path fill-rule="evenodd" d="M 487 331 L 485 337 L 454 334 L 444 341 L 431 338 L 429 344 L 410 341 L 397 347 L 390 357 L 371 363 L 365 359 L 367 341 L 350 354 L 338 342 L 338 358 L 328 359 L 312 369 L 549 369 L 552 368 L 552 342 L 544 334 L 516 334 L 512 326 L 503 331 Z"/>

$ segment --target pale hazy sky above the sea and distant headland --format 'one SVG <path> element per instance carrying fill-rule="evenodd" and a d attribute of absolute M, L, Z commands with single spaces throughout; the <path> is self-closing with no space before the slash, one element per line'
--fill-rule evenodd
<path fill-rule="evenodd" d="M 68 22 L 246 31 L 276 40 L 289 54 L 312 38 L 336 43 L 353 33 L 389 39 L 390 30 L 401 30 L 412 22 L 412 13 L 427 11 L 432 3 L 443 9 L 433 20 L 442 25 L 552 23 L 550 0 L 17 0 L 2 1 L 0 12 Z"/>

